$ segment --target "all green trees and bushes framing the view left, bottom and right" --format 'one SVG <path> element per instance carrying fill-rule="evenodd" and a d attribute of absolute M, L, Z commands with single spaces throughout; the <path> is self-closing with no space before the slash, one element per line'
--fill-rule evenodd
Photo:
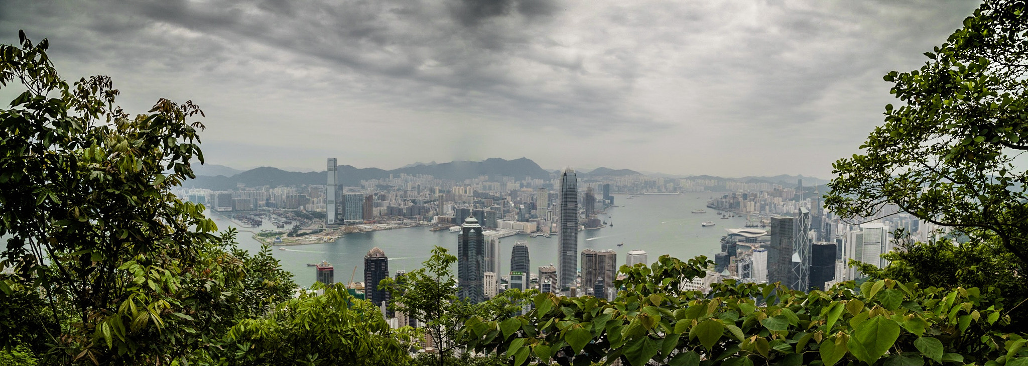
<path fill-rule="evenodd" d="M 1028 172 L 1021 1 L 986 1 L 921 70 L 890 73 L 906 105 L 836 163 L 830 208 L 896 205 L 970 240 L 902 242 L 872 280 L 828 291 L 715 284 L 704 257 L 623 266 L 613 301 L 455 295 L 455 258 L 380 286 L 423 326 L 392 329 L 341 284 L 296 284 L 267 248 L 241 251 L 172 187 L 203 161 L 191 102 L 117 107 L 109 78 L 64 81 L 47 41 L 0 45 L 2 365 L 1028 365 L 1020 316 Z M 901 235 L 901 239 L 903 236 Z M 372 285 L 374 286 L 374 285 Z M 518 313 L 523 313 L 518 315 Z M 426 338 L 435 353 L 413 356 Z"/>

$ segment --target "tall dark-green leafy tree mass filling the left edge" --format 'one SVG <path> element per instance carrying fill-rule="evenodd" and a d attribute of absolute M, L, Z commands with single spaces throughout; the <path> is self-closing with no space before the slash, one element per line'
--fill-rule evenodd
<path fill-rule="evenodd" d="M 266 248 L 171 192 L 204 160 L 195 105 L 131 116 L 110 78 L 69 84 L 47 40 L 20 42 L 0 45 L 0 85 L 25 87 L 0 110 L 0 333 L 44 364 L 169 364 L 289 295 Z"/>

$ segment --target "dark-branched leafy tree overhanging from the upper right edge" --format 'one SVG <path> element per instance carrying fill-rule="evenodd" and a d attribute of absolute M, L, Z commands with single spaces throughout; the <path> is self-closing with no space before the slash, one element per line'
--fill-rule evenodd
<path fill-rule="evenodd" d="M 987 0 L 919 70 L 890 72 L 885 123 L 839 159 L 825 206 L 844 218 L 895 205 L 1028 263 L 1028 5 Z"/>

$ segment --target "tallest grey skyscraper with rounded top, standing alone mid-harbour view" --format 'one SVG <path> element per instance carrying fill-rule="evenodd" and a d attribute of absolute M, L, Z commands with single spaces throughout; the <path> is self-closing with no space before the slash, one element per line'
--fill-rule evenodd
<path fill-rule="evenodd" d="M 558 200 L 557 271 L 564 289 L 575 283 L 578 273 L 578 178 L 574 169 L 564 169 L 560 175 Z"/>

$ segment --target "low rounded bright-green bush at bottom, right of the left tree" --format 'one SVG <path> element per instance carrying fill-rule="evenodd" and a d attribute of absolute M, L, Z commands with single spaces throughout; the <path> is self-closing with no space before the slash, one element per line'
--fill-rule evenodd
<path fill-rule="evenodd" d="M 315 291 L 323 291 L 321 295 Z M 407 362 L 416 334 L 392 330 L 374 304 L 350 295 L 343 284 L 315 284 L 261 319 L 244 320 L 223 346 L 228 365 L 363 365 Z"/>

